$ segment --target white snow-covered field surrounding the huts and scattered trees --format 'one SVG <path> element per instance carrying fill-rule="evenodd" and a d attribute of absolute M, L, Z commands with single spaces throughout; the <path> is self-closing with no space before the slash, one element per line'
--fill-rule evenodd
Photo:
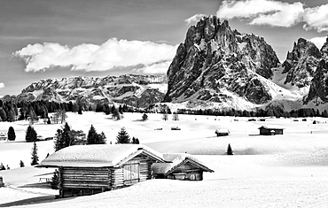
<path fill-rule="evenodd" d="M 94 196 L 53 199 L 58 191 L 39 183 L 51 177 L 53 169 L 29 166 L 32 143 L 24 142 L 28 123 L 0 122 L 0 131 L 12 126 L 17 135 L 15 142 L 0 142 L 0 162 L 11 167 L 0 172 L 6 185 L 0 188 L 0 207 L 328 207 L 328 119 L 263 122 L 179 115 L 177 121 L 170 116 L 164 121 L 160 114 L 148 114 L 144 122 L 140 113 L 125 113 L 118 121 L 96 112 L 67 115 L 74 130 L 88 134 L 92 124 L 105 133 L 107 143 L 115 143 L 126 127 L 130 136 L 154 150 L 197 155 L 215 173 L 205 173 L 204 181 L 151 180 Z M 312 124 L 314 119 L 319 122 Z M 262 125 L 284 127 L 284 135 L 258 135 Z M 182 130 L 170 130 L 176 126 Z M 38 135 L 48 137 L 61 125 L 40 122 L 34 127 Z M 227 128 L 231 134 L 216 137 L 215 128 Z M 228 143 L 234 156 L 225 155 Z M 38 142 L 37 147 L 42 160 L 53 152 L 53 141 Z M 26 167 L 19 168 L 20 160 Z"/>

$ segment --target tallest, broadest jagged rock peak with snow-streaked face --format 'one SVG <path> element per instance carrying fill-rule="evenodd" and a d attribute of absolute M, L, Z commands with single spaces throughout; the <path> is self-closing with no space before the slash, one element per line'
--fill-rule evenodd
<path fill-rule="evenodd" d="M 272 99 L 264 78 L 279 60 L 256 35 L 232 30 L 227 20 L 205 17 L 188 29 L 168 68 L 167 102 L 226 102 L 240 96 L 254 104 Z"/>

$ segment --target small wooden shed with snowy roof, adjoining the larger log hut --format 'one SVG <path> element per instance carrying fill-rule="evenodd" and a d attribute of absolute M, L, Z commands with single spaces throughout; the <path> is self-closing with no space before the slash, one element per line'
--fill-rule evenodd
<path fill-rule="evenodd" d="M 183 181 L 202 181 L 203 172 L 213 173 L 197 158 L 187 153 L 163 154 L 166 164 L 152 164 L 152 171 L 155 178 L 165 178 Z"/>

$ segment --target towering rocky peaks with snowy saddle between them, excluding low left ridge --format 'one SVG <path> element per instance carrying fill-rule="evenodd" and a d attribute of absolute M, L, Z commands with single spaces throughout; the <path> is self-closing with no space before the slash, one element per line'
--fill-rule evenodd
<path fill-rule="evenodd" d="M 326 48 L 327 44 L 318 50 L 314 43 L 300 38 L 280 64 L 263 37 L 239 33 L 227 20 L 206 16 L 188 29 L 176 50 L 168 68 L 165 101 L 241 110 L 308 107 L 308 101 L 316 98 L 308 96 L 308 91 Z M 322 91 L 321 100 L 328 96 Z"/>

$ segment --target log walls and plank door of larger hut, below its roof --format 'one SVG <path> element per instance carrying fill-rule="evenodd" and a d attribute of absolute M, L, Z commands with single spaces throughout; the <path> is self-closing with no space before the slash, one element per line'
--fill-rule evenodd
<path fill-rule="evenodd" d="M 92 195 L 152 179 L 154 162 L 140 154 L 120 167 L 59 167 L 59 196 Z M 135 178 L 127 180 L 127 171 Z"/>

